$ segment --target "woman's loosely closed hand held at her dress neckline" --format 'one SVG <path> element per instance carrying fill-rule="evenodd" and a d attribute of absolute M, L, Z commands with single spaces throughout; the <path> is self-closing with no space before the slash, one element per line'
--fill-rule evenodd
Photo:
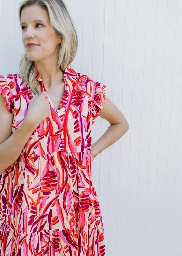
<path fill-rule="evenodd" d="M 50 114 L 51 114 L 51 108 L 50 108 L 49 100 L 47 98 L 47 92 L 43 91 L 40 94 L 40 96 L 36 94 L 33 100 L 29 102 L 25 119 L 30 124 L 33 124 L 34 127 L 36 128 Z"/>

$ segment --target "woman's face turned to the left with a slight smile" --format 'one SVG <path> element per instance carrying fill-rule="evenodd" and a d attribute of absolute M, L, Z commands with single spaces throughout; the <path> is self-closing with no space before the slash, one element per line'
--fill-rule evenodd
<path fill-rule="evenodd" d="M 41 20 L 41 21 L 38 21 Z M 40 5 L 26 6 L 21 12 L 22 41 L 27 58 L 40 61 L 51 55 L 57 58 L 61 35 L 53 28 L 47 11 Z M 27 48 L 27 43 L 38 44 Z"/>

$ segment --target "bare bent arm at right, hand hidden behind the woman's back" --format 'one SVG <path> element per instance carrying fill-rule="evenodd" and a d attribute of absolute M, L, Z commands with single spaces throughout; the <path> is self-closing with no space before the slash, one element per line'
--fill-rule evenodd
<path fill-rule="evenodd" d="M 107 120 L 110 125 L 106 132 L 91 145 L 93 158 L 119 140 L 129 129 L 126 118 L 111 100 L 106 97 L 102 106 L 103 108 L 99 111 L 100 117 Z"/>

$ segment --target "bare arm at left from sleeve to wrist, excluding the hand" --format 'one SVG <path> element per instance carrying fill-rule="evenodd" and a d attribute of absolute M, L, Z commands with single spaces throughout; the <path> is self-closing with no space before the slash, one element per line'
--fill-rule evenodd
<path fill-rule="evenodd" d="M 25 117 L 22 124 L 12 133 L 12 119 L 13 115 L 7 110 L 4 98 L 0 95 L 0 173 L 16 162 L 36 128 Z"/>

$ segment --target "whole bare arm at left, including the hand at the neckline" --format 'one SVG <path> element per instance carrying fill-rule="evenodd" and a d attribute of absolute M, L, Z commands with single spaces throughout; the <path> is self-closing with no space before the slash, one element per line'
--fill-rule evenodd
<path fill-rule="evenodd" d="M 0 173 L 16 162 L 26 142 L 36 127 L 51 114 L 47 92 L 29 102 L 27 114 L 21 125 L 12 133 L 13 115 L 0 94 Z"/>

